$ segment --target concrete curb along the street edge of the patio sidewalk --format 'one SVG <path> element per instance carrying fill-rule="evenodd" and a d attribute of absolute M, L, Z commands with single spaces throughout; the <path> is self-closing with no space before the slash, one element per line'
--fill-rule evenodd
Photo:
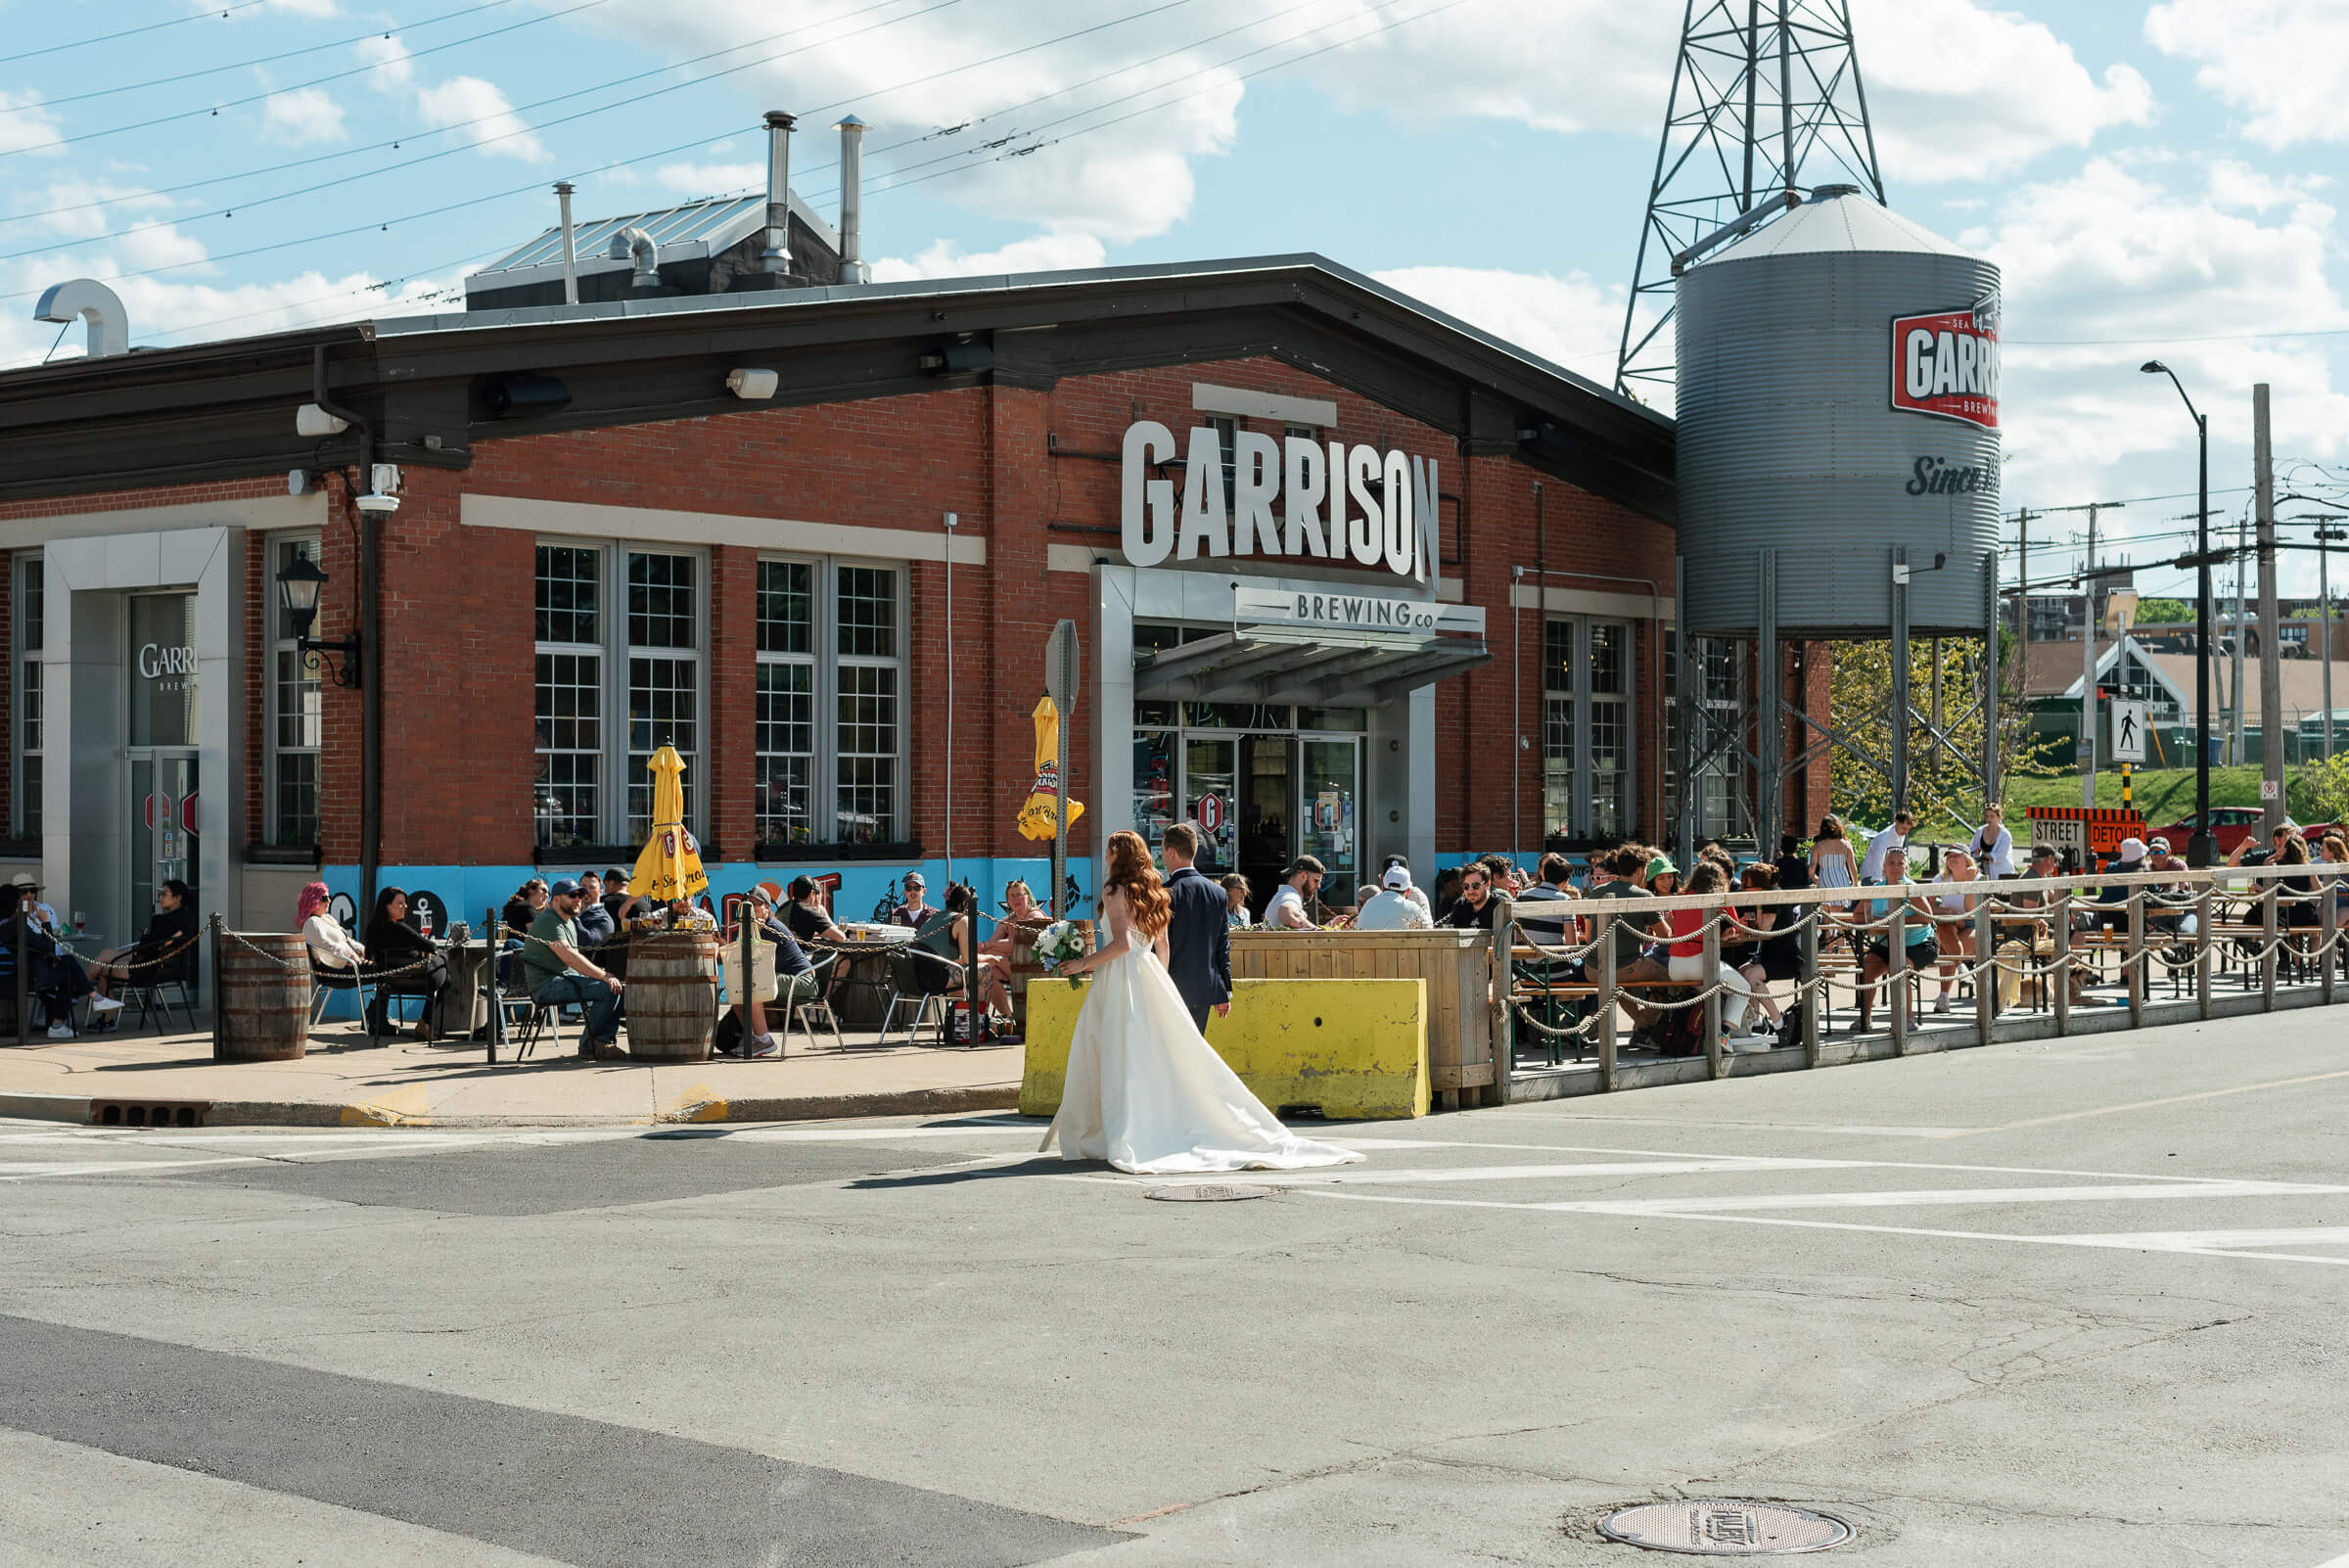
<path fill-rule="evenodd" d="M 92 1099 L 136 1103 L 139 1096 L 87 1094 L 0 1094 L 0 1117 L 28 1122 L 66 1122 L 89 1127 Z M 162 1101 L 157 1101 L 162 1103 Z M 179 1101 L 169 1101 L 179 1103 Z M 961 1115 L 970 1110 L 1017 1110 L 1019 1084 L 975 1084 L 965 1089 L 904 1089 L 897 1094 L 810 1094 L 749 1096 L 731 1101 L 695 1101 L 648 1117 L 608 1115 L 453 1115 L 430 1117 L 385 1106 L 345 1106 L 327 1101 L 209 1101 L 204 1127 L 658 1127 L 712 1122 L 836 1122 L 881 1115 Z"/>

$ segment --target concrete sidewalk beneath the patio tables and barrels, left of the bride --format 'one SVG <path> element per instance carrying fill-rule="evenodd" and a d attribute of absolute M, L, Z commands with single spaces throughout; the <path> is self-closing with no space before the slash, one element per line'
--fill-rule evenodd
<path fill-rule="evenodd" d="M 850 1115 L 1010 1110 L 1022 1047 L 869 1045 L 848 1035 L 780 1061 L 648 1066 L 538 1052 L 486 1066 L 479 1045 L 388 1040 L 327 1023 L 301 1061 L 221 1063 L 211 1035 L 82 1035 L 0 1049 L 0 1115 L 56 1122 L 176 1120 L 207 1127 L 561 1127 L 613 1122 L 806 1122 Z M 108 1115 L 108 1108 L 115 1108 Z"/>

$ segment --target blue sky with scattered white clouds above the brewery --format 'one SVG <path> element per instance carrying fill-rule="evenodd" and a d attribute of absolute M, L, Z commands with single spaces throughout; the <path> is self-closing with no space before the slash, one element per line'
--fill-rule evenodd
<path fill-rule="evenodd" d="M 2175 554 L 2194 444 L 2135 371 L 2152 354 L 2210 413 L 2229 519 L 2255 380 L 2288 486 L 2349 498 L 2349 0 L 1851 9 L 1891 204 L 2006 270 L 2008 507 L 2128 500 L 2105 533 Z M 557 178 L 580 216 L 754 185 L 763 108 L 808 117 L 794 185 L 832 211 L 824 127 L 855 108 L 883 277 L 1311 249 L 1607 380 L 1677 21 L 1668 0 L 0 0 L 0 364 L 78 350 L 31 322 L 75 275 L 115 282 L 134 343 L 423 310 L 550 223 Z M 2051 519 L 2034 554 L 2077 528 Z M 2288 559 L 2288 589 L 2311 577 Z"/>

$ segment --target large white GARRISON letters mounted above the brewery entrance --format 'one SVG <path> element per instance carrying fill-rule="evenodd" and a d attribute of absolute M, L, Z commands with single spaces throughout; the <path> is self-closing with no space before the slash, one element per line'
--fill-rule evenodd
<path fill-rule="evenodd" d="M 1285 556 L 1384 566 L 1414 582 L 1438 575 L 1433 458 L 1254 430 L 1231 446 L 1226 505 L 1224 444 L 1212 425 L 1191 432 L 1177 509 L 1174 481 L 1153 474 L 1174 458 L 1174 432 L 1156 420 L 1125 427 L 1118 533 L 1132 566 Z"/>

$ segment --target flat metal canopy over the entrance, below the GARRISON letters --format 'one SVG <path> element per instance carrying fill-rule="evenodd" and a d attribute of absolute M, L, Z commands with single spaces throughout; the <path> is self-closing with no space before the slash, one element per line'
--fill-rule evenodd
<path fill-rule="evenodd" d="M 1384 707 L 1492 660 L 1485 638 L 1247 627 L 1135 664 L 1135 697 Z"/>

